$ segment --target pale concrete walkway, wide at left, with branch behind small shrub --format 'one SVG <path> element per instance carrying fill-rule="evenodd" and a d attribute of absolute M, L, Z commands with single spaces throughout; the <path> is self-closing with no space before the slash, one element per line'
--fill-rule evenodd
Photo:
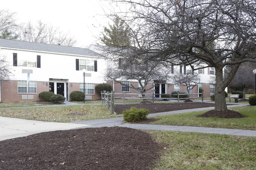
<path fill-rule="evenodd" d="M 230 107 L 246 106 L 246 105 L 248 104 L 234 104 L 228 107 L 230 108 Z M 179 114 L 179 113 L 197 112 L 197 111 L 212 110 L 212 109 L 214 109 L 214 107 L 177 110 L 177 111 L 163 112 L 163 113 L 152 113 L 148 115 L 148 117 L 153 117 L 156 115 L 171 115 L 171 114 Z M 218 133 L 218 134 L 226 134 L 226 135 L 241 135 L 241 136 L 256 137 L 256 130 L 236 130 L 236 129 L 223 129 L 223 128 L 204 128 L 204 127 L 194 127 L 194 126 L 170 126 L 170 125 L 124 123 L 122 117 L 109 118 L 109 119 L 97 119 L 97 120 L 91 120 L 91 121 L 69 122 L 69 123 L 31 121 L 31 120 L 25 120 L 25 119 L 0 117 L 0 141 L 5 139 L 12 139 L 15 137 L 32 135 L 40 132 L 49 132 L 49 131 L 55 131 L 55 130 L 70 130 L 70 129 L 77 129 L 77 128 L 96 128 L 96 127 L 99 128 L 99 127 L 105 127 L 105 126 L 106 127 L 120 126 L 120 127 L 128 127 L 128 128 L 134 128 L 134 129 L 140 129 L 140 130 L 167 130 L 167 131 L 180 131 L 180 132 Z"/>

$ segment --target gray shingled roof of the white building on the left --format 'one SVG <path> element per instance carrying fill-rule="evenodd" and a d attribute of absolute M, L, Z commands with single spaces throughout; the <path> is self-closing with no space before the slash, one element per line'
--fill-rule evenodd
<path fill-rule="evenodd" d="M 52 44 L 8 40 L 8 39 L 0 38 L 0 48 L 4 48 L 4 47 L 42 51 L 42 52 L 47 51 L 52 53 L 65 53 L 65 54 L 71 54 L 71 55 L 87 55 L 87 56 L 93 56 L 93 57 L 103 57 L 102 55 L 96 53 L 95 51 L 92 51 L 87 48 L 59 46 L 59 45 L 52 45 Z"/>

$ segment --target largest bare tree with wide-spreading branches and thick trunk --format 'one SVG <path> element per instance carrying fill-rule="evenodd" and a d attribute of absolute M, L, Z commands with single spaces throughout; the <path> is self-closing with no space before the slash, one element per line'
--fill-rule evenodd
<path fill-rule="evenodd" d="M 224 89 L 240 64 L 256 62 L 254 0 L 113 0 L 131 5 L 129 19 L 143 37 L 148 60 L 204 62 L 215 68 L 215 110 L 227 110 Z M 135 55 L 133 56 L 135 58 Z M 134 60 L 130 58 L 130 60 Z M 223 77 L 223 68 L 231 71 Z"/>

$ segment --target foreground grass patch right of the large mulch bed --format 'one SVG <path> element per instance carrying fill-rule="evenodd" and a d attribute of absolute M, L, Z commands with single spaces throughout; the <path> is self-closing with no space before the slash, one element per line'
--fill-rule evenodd
<path fill-rule="evenodd" d="M 256 137 L 147 131 L 163 148 L 154 170 L 254 170 Z"/>

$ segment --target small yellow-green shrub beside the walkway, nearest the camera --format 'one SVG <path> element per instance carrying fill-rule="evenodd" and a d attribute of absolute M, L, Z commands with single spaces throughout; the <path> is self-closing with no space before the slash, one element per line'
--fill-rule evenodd
<path fill-rule="evenodd" d="M 148 110 L 141 108 L 137 109 L 132 107 L 130 110 L 125 110 L 124 114 L 124 121 L 126 122 L 135 122 L 147 119 Z"/>

